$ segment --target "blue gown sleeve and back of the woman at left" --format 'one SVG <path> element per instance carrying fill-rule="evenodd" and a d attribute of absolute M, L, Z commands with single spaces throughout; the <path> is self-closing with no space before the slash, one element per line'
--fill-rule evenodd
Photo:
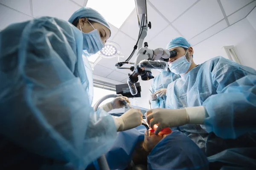
<path fill-rule="evenodd" d="M 0 34 L 0 134 L 83 170 L 111 148 L 116 127 L 111 115 L 91 107 L 82 34 L 51 17 L 26 23 L 20 37 L 19 26 Z"/>

